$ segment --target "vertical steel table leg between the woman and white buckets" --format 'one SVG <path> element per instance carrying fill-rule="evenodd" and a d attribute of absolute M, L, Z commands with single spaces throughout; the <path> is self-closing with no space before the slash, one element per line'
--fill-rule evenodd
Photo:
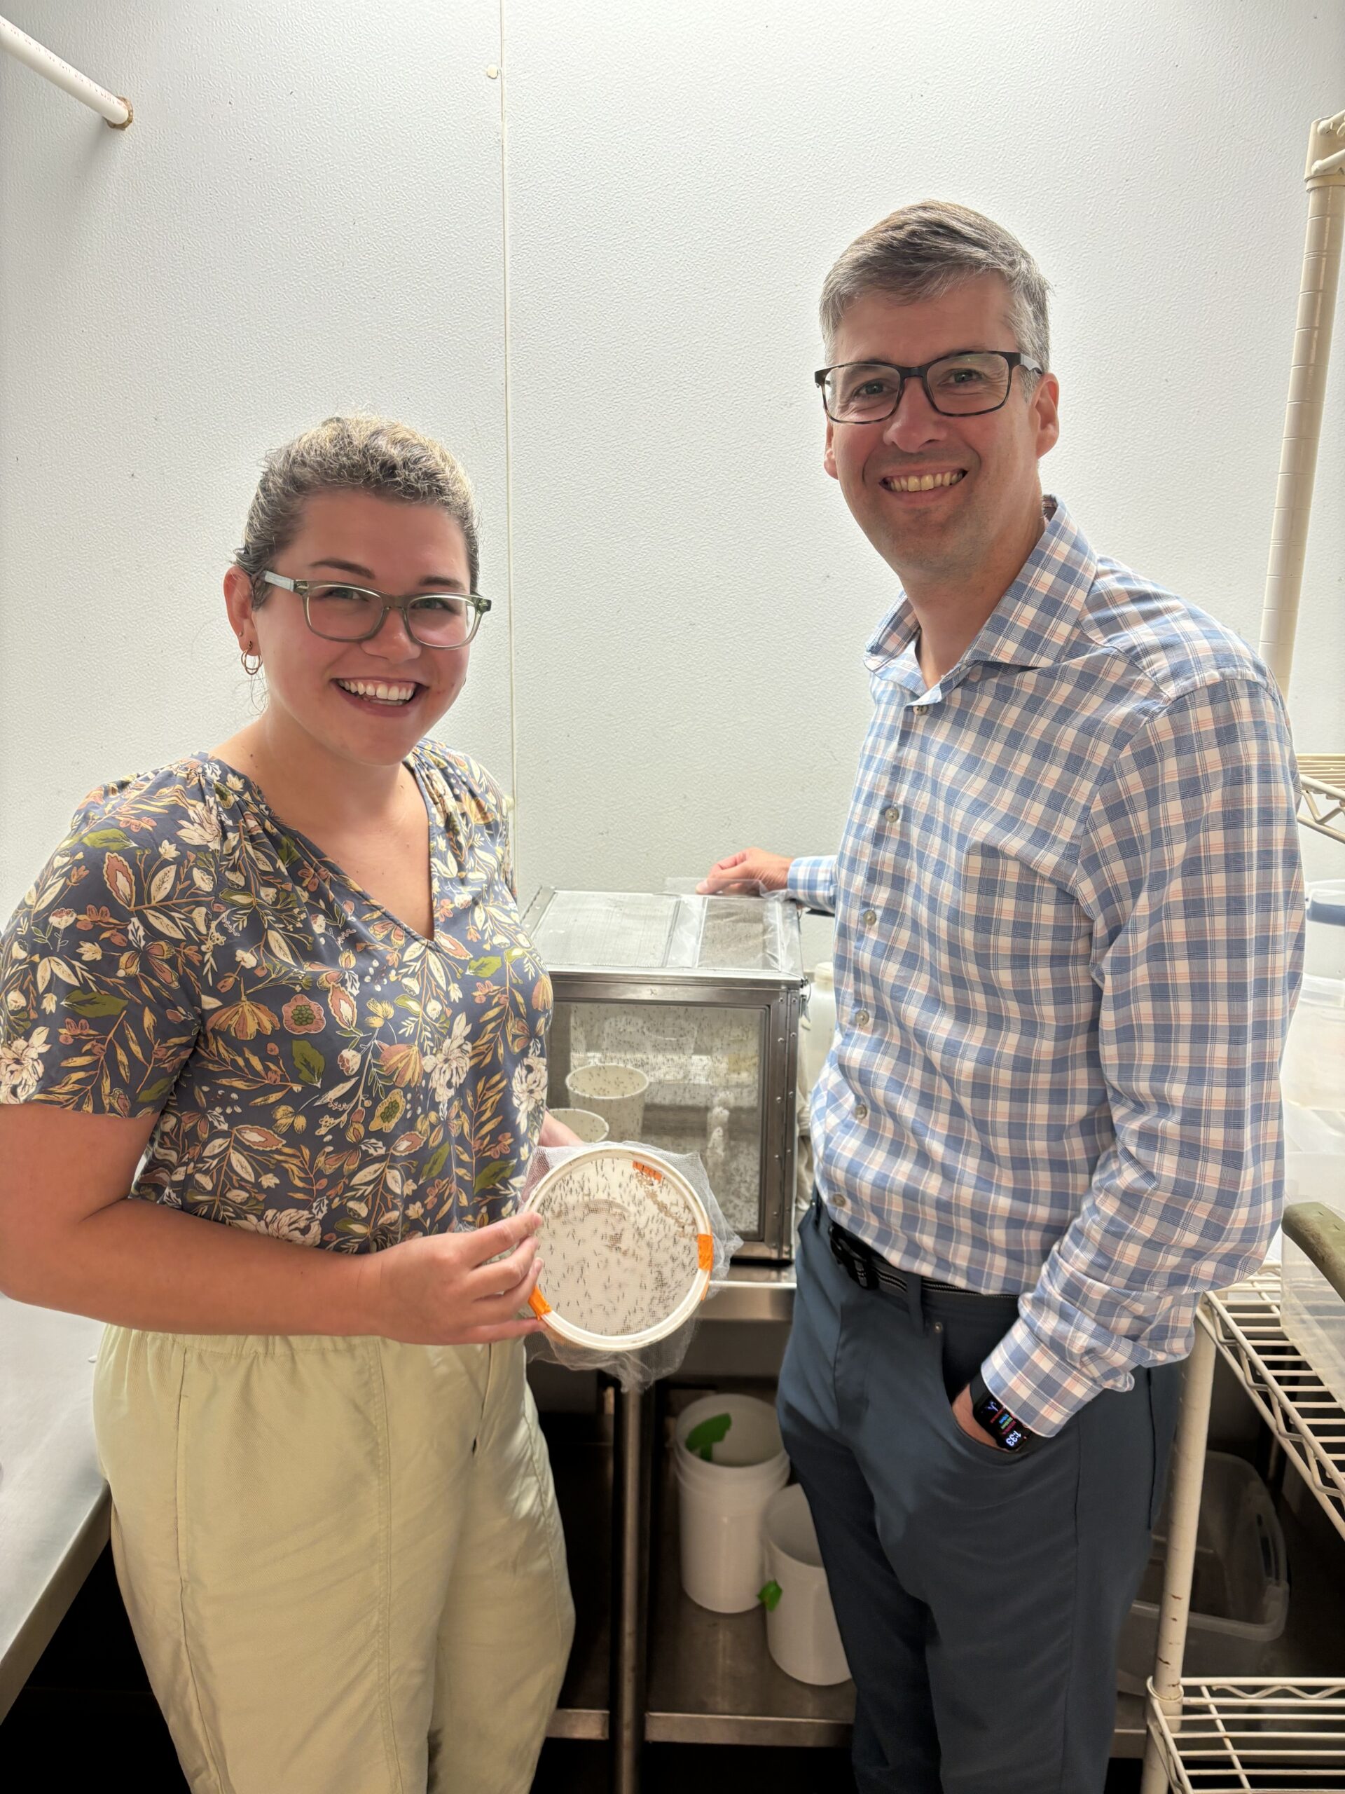
<path fill-rule="evenodd" d="M 612 1478 L 612 1794 L 638 1794 L 649 1613 L 653 1390 L 619 1389 Z"/>

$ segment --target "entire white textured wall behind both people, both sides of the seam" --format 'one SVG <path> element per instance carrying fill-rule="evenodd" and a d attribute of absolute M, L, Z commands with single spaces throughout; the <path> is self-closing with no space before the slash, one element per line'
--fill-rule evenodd
<path fill-rule="evenodd" d="M 88 784 L 246 718 L 217 585 L 262 448 L 350 404 L 441 432 L 506 590 L 499 5 L 9 13 L 136 122 L 0 66 L 4 913 Z M 506 0 L 504 59 L 515 651 L 500 606 L 443 732 L 508 782 L 516 728 L 525 892 L 834 845 L 893 585 L 821 472 L 814 303 L 906 199 L 1033 248 L 1047 484 L 1255 640 L 1340 5 Z M 1341 492 L 1345 325 L 1302 748 L 1345 745 Z"/>

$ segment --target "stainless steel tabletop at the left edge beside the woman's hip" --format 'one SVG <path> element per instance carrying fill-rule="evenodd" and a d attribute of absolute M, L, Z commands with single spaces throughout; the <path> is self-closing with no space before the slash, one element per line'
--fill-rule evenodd
<path fill-rule="evenodd" d="M 90 1390 L 100 1320 L 0 1295 L 0 1719 L 108 1543 Z"/>

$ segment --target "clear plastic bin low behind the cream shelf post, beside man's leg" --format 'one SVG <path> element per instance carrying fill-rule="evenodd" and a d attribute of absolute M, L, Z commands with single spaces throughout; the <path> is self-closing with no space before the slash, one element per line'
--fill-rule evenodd
<path fill-rule="evenodd" d="M 1288 1245 L 1288 1241 L 1286 1241 Z M 1158 1600 L 1167 1557 L 1167 1511 L 1158 1516 L 1139 1600 L 1126 1615 L 1117 1686 L 1144 1694 L 1158 1649 Z M 1196 1532 L 1196 1573 L 1184 1676 L 1257 1676 L 1284 1631 L 1289 1566 L 1270 1493 L 1250 1464 L 1223 1451 L 1205 1455 Z"/>

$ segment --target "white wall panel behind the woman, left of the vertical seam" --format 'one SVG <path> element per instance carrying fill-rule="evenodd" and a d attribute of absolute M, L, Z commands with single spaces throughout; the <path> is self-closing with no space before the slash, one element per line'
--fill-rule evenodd
<path fill-rule="evenodd" d="M 398 34 L 387 16 L 400 13 Z M 109 131 L 0 56 L 0 913 L 79 797 L 233 734 L 221 578 L 264 450 L 364 405 L 441 434 L 504 562 L 493 5 L 20 0 Z M 509 766 L 508 612 L 461 730 Z"/>

